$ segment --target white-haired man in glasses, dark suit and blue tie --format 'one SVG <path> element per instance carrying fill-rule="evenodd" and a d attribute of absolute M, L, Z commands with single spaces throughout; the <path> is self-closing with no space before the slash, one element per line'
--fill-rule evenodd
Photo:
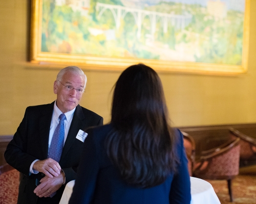
<path fill-rule="evenodd" d="M 83 131 L 103 118 L 79 105 L 87 77 L 79 67 L 63 68 L 53 91 L 57 99 L 26 109 L 7 146 L 7 163 L 22 173 L 18 203 L 59 203 L 65 184 L 76 179 Z"/>

